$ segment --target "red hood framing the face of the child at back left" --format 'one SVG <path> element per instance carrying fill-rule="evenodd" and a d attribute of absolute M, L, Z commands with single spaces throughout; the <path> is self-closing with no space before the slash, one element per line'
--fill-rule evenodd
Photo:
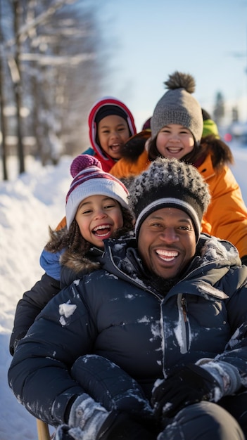
<path fill-rule="evenodd" d="M 96 127 L 95 117 L 99 109 L 102 108 L 104 105 L 116 105 L 125 112 L 125 114 L 127 115 L 127 124 L 129 126 L 130 136 L 136 134 L 137 129 L 134 124 L 134 117 L 132 115 L 132 112 L 130 112 L 129 108 L 127 108 L 127 106 L 124 103 L 122 103 L 122 101 L 119 101 L 118 99 L 113 98 L 112 96 L 105 96 L 104 98 L 101 98 L 99 101 L 96 101 L 96 103 L 91 108 L 88 117 L 89 138 L 90 138 L 91 146 L 94 150 L 94 156 L 102 164 L 103 171 L 109 172 L 116 162 L 112 157 L 110 157 L 108 154 L 105 153 L 105 151 L 102 150 L 101 146 L 96 141 L 97 127 Z M 89 152 L 89 150 L 87 150 L 87 152 Z M 87 153 L 87 154 L 91 154 L 91 153 Z"/>

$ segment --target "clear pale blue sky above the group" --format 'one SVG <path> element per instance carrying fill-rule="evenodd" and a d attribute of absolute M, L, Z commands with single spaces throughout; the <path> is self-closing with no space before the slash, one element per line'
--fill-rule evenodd
<path fill-rule="evenodd" d="M 105 94 L 129 106 L 137 129 L 175 70 L 194 76 L 208 112 L 220 91 L 227 114 L 238 105 L 247 120 L 247 0 L 104 0 L 101 24 L 112 51 Z"/>

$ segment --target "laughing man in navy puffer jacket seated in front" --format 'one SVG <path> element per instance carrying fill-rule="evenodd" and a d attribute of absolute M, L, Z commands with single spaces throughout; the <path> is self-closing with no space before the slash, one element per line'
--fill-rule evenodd
<path fill-rule="evenodd" d="M 101 268 L 47 304 L 10 387 L 59 440 L 243 440 L 247 267 L 201 235 L 193 166 L 160 158 L 129 193 L 136 238 L 106 240 Z"/>

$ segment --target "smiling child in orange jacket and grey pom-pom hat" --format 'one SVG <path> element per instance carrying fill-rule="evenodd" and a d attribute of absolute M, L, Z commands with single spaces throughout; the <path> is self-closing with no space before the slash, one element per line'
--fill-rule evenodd
<path fill-rule="evenodd" d="M 193 164 L 208 183 L 212 196 L 203 216 L 202 231 L 232 242 L 247 264 L 247 207 L 229 168 L 234 163 L 232 152 L 219 136 L 203 136 L 201 105 L 192 96 L 194 77 L 174 72 L 164 84 L 168 90 L 153 110 L 146 148 L 138 157 L 122 157 L 110 174 L 129 186 L 128 181 L 148 169 L 157 157 L 174 157 Z"/>

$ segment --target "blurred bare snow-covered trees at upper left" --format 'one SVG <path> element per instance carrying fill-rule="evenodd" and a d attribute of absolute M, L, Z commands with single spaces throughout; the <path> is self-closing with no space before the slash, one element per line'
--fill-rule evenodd
<path fill-rule="evenodd" d="M 0 19 L 1 61 L 11 73 L 8 105 L 15 108 L 8 134 L 17 138 L 23 172 L 27 153 L 56 164 L 61 154 L 88 146 L 83 141 L 88 110 L 107 72 L 98 20 L 102 6 L 89 0 L 0 4 L 8 7 Z"/>

